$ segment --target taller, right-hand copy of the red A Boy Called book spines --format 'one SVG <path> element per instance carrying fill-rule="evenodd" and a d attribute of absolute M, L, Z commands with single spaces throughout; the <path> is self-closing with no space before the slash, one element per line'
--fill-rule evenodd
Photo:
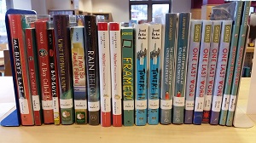
<path fill-rule="evenodd" d="M 38 44 L 38 67 L 42 91 L 44 123 L 54 123 L 53 101 L 49 72 L 49 47 L 47 40 L 47 22 L 36 21 L 36 37 Z"/>

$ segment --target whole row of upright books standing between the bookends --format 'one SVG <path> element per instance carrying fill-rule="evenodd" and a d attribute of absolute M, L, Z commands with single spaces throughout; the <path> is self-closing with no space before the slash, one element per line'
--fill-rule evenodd
<path fill-rule="evenodd" d="M 231 20 L 166 14 L 164 25 L 128 28 L 10 14 L 21 124 L 232 126 L 250 2 L 228 4 Z"/>

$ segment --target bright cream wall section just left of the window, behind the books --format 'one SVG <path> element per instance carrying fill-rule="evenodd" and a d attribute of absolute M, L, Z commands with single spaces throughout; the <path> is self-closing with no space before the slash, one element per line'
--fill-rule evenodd
<path fill-rule="evenodd" d="M 113 21 L 129 21 L 129 0 L 91 0 L 92 12 L 112 13 Z"/>

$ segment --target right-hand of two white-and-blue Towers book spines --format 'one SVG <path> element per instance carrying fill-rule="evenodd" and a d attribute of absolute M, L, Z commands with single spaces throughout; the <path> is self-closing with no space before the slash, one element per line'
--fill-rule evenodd
<path fill-rule="evenodd" d="M 161 25 L 148 26 L 148 124 L 159 123 Z"/>

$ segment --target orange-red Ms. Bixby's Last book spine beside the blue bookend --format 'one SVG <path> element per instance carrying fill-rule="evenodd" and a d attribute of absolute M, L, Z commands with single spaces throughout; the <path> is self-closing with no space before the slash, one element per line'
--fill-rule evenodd
<path fill-rule="evenodd" d="M 21 25 L 21 15 L 9 15 L 10 35 L 12 39 L 12 49 L 14 51 L 15 78 L 18 87 L 20 104 L 20 119 L 22 125 L 34 125 L 32 114 L 32 97 L 27 81 L 28 71 L 26 65 L 26 47 L 24 43 L 23 30 Z"/>

